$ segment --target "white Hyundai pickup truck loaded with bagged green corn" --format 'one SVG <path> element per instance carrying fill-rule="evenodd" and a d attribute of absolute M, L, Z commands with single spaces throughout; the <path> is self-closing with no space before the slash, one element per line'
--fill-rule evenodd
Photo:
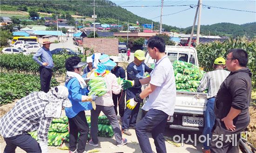
<path fill-rule="evenodd" d="M 169 60 L 182 60 L 198 66 L 197 53 L 194 47 L 166 46 L 165 53 Z M 146 51 L 148 66 L 155 63 Z M 168 66 L 167 66 L 168 67 Z M 174 115 L 168 118 L 168 126 L 179 130 L 202 131 L 204 126 L 203 114 L 206 109 L 206 93 L 178 92 Z"/>

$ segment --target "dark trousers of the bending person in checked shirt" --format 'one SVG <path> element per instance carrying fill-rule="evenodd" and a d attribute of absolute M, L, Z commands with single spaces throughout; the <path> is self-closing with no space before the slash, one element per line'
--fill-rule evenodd
<path fill-rule="evenodd" d="M 41 153 L 39 143 L 31 137 L 30 134 L 21 134 L 10 138 L 4 138 L 6 147 L 4 153 L 15 153 L 15 149 L 19 146 L 27 153 Z"/>

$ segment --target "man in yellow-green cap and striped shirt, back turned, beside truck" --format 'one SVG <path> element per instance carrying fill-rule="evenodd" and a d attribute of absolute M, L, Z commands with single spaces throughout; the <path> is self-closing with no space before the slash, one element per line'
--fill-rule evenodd
<path fill-rule="evenodd" d="M 204 129 L 202 134 L 206 138 L 211 138 L 212 134 L 212 128 L 215 123 L 215 113 L 214 113 L 214 103 L 215 103 L 215 97 L 218 93 L 218 90 L 222 84 L 222 82 L 226 79 L 226 77 L 229 75 L 229 71 L 224 70 L 225 67 L 225 59 L 222 57 L 217 58 L 214 61 L 213 67 L 214 71 L 210 71 L 206 73 L 202 80 L 200 81 L 199 86 L 197 87 L 197 92 L 203 92 L 205 89 L 208 88 L 208 95 L 207 99 L 208 102 L 206 104 L 206 110 L 204 113 Z M 210 153 L 210 147 L 209 147 L 209 140 L 206 140 L 203 143 L 203 152 L 204 153 Z M 208 144 L 208 145 L 207 145 Z"/>

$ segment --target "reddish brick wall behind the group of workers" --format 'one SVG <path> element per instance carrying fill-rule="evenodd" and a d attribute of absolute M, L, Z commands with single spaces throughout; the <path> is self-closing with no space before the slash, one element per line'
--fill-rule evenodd
<path fill-rule="evenodd" d="M 112 56 L 118 55 L 117 38 L 84 38 L 84 47 L 94 50 L 94 53 L 105 53 Z M 87 52 L 88 54 L 89 52 Z"/>

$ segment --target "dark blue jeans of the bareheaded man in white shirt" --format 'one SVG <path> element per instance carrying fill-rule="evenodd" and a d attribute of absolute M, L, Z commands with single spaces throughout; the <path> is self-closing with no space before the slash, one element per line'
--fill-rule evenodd
<path fill-rule="evenodd" d="M 143 119 L 135 126 L 135 132 L 142 153 L 153 153 L 150 142 L 148 139 L 148 133 L 152 134 L 154 139 L 156 152 L 166 153 L 165 140 L 163 133 L 167 123 L 168 114 L 157 109 L 150 109 Z"/>

